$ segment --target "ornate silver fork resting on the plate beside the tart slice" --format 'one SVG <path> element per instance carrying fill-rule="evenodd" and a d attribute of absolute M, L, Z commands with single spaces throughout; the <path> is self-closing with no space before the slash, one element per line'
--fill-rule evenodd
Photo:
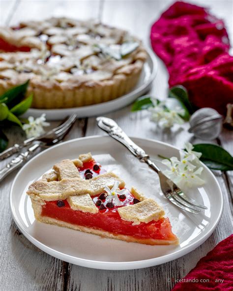
<path fill-rule="evenodd" d="M 188 198 L 172 180 L 166 177 L 155 163 L 150 160 L 146 152 L 141 147 L 137 146 L 113 119 L 97 117 L 96 120 L 101 129 L 126 146 L 133 155 L 135 155 L 141 162 L 145 162 L 158 174 L 161 190 L 171 203 L 194 214 L 199 214 L 203 209 L 207 209 L 206 206 L 197 204 L 194 200 Z"/>

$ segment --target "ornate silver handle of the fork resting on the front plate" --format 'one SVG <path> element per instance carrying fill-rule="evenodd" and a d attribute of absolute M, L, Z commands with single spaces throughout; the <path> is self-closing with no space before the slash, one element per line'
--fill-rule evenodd
<path fill-rule="evenodd" d="M 143 160 L 149 157 L 146 152 L 137 146 L 127 134 L 118 126 L 117 122 L 107 117 L 97 117 L 98 126 L 105 130 L 111 137 L 126 146 L 137 158 Z"/>

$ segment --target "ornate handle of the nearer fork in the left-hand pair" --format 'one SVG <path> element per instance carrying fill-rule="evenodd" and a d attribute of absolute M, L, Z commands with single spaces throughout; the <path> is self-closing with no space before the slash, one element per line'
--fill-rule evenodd
<path fill-rule="evenodd" d="M 29 149 L 21 154 L 19 154 L 17 157 L 12 159 L 2 170 L 0 170 L 0 181 L 4 179 L 8 174 L 13 172 L 15 169 L 19 168 L 24 162 L 29 160 L 33 152 L 41 146 L 40 143 L 35 144 L 33 146 L 30 146 Z"/>

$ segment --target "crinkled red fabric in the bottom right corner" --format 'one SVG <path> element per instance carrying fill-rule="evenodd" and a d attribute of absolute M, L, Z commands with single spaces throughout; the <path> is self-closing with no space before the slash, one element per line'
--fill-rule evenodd
<path fill-rule="evenodd" d="M 177 283 L 172 291 L 233 290 L 233 234 L 202 258 L 183 280 L 194 279 L 198 282 Z M 209 282 L 201 282 L 203 279 L 208 279 Z"/>

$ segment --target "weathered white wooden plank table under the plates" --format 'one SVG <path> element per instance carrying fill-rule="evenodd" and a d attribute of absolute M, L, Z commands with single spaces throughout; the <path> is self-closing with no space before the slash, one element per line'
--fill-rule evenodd
<path fill-rule="evenodd" d="M 0 0 L 0 25 L 13 25 L 20 20 L 42 19 L 50 16 L 70 16 L 80 19 L 98 18 L 114 26 L 128 29 L 149 45 L 150 24 L 171 4 L 171 0 Z M 194 2 L 194 1 L 192 1 Z M 196 3 L 211 7 L 212 13 L 225 19 L 233 39 L 233 1 L 197 0 Z M 157 77 L 151 94 L 164 98 L 168 89 L 168 75 L 158 60 Z M 114 118 L 128 135 L 145 137 L 183 147 L 184 143 L 197 142 L 185 131 L 156 131 L 144 112 L 131 113 L 130 106 L 106 115 Z M 53 122 L 55 126 L 57 123 Z M 16 127 L 7 130 L 10 145 L 25 137 Z M 90 135 L 102 135 L 95 118 L 77 120 L 65 140 Z M 233 154 L 233 132 L 224 130 L 215 141 Z M 1 163 L 1 167 L 4 163 Z M 173 279 L 184 277 L 196 263 L 219 241 L 232 233 L 231 201 L 233 173 L 216 172 L 224 194 L 224 211 L 214 233 L 190 254 L 159 266 L 128 270 L 104 271 L 84 268 L 62 262 L 33 246 L 17 230 L 9 209 L 8 196 L 16 173 L 9 175 L 0 185 L 0 290 L 79 290 L 79 291 L 164 291 L 171 290 Z M 168 280 L 169 279 L 169 280 Z"/>

